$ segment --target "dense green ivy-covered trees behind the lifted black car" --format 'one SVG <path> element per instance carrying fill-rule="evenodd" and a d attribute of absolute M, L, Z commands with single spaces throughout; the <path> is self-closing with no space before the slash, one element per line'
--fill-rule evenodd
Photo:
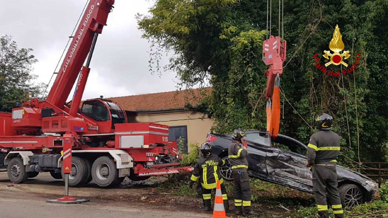
<path fill-rule="evenodd" d="M 272 35 L 281 35 L 276 6 Z M 155 46 L 174 52 L 168 67 L 177 71 L 181 84 L 190 87 L 210 78 L 207 110 L 215 119 L 214 131 L 265 129 L 261 51 L 267 2 L 158 0 L 150 12 L 138 16 L 139 28 Z M 281 77 L 280 131 L 308 142 L 314 118 L 328 112 L 342 137 L 342 161 L 383 159 L 388 143 L 388 0 L 284 1 L 283 19 L 288 56 Z M 321 55 L 336 24 L 352 54 L 348 62 L 361 56 L 354 71 L 335 77 L 316 69 L 313 55 L 319 53 L 324 62 Z"/>

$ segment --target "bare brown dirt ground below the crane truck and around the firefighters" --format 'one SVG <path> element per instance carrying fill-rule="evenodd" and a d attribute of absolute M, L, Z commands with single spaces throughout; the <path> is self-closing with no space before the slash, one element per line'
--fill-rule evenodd
<path fill-rule="evenodd" d="M 126 178 L 120 186 L 114 188 L 101 188 L 92 181 L 81 187 L 70 187 L 69 194 L 78 198 L 90 199 L 90 202 L 86 203 L 88 205 L 171 212 L 182 211 L 198 214 L 199 217 L 210 217 L 211 213 L 206 215 L 203 211 L 201 198 L 175 196 L 168 193 L 168 190 L 159 190 L 158 183 L 164 180 L 166 178 L 156 177 L 142 182 L 132 182 Z M 152 188 L 154 188 L 154 193 L 152 193 Z M 45 199 L 55 199 L 63 194 L 64 182 L 55 180 L 49 173 L 40 173 L 37 177 L 30 178 L 23 184 L 12 185 L 8 180 L 7 173 L 0 172 L 0 199 L 40 199 L 43 203 Z M 230 201 L 230 205 L 231 209 L 234 209 L 233 201 Z M 253 208 L 262 213 L 260 217 L 263 218 L 287 217 L 294 210 L 294 208 L 282 207 L 276 199 L 271 198 L 253 203 Z M 290 211 L 287 211 L 287 209 Z M 171 215 L 171 217 L 174 216 Z"/>

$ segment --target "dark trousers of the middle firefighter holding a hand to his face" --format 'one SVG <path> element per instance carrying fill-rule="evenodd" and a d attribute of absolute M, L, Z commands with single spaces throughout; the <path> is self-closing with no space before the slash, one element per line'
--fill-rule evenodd
<path fill-rule="evenodd" d="M 251 211 L 251 187 L 247 172 L 234 171 L 234 206 L 237 210 L 243 209 L 244 213 Z M 241 208 L 242 207 L 242 208 Z"/>

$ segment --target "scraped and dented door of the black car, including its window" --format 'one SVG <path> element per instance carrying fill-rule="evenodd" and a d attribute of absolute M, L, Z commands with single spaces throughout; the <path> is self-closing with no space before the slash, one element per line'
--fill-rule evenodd
<path fill-rule="evenodd" d="M 307 157 L 299 154 L 305 146 L 299 145 L 289 137 L 279 135 L 273 146 L 267 149 L 266 166 L 268 175 L 279 179 L 282 185 L 310 191 L 312 187 L 311 171 L 305 166 Z"/>

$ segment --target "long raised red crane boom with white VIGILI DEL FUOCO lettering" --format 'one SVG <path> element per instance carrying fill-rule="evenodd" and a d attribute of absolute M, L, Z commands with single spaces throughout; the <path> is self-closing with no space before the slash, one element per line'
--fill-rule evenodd
<path fill-rule="evenodd" d="M 89 53 L 95 33 L 101 33 L 114 0 L 90 0 L 46 101 L 63 109 Z"/>

